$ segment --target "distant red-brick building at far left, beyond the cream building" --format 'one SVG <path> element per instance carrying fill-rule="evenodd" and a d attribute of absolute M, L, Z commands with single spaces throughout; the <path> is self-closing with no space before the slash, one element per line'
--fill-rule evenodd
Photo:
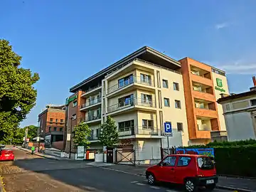
<path fill-rule="evenodd" d="M 38 114 L 38 134 L 45 139 L 46 147 L 63 149 L 65 105 L 47 105 Z"/>

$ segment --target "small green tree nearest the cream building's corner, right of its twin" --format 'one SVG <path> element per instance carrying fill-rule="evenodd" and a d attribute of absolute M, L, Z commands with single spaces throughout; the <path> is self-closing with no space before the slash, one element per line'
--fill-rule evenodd
<path fill-rule="evenodd" d="M 107 116 L 107 121 L 100 127 L 101 133 L 99 140 L 103 146 L 114 146 L 119 142 L 117 126 L 114 124 L 114 120 Z"/>

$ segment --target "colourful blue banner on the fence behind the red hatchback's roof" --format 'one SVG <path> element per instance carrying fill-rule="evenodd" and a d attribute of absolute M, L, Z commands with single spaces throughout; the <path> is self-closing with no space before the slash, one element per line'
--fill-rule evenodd
<path fill-rule="evenodd" d="M 214 157 L 214 149 L 213 148 L 195 148 L 195 149 L 177 148 L 176 154 L 199 154 L 199 155 Z"/>

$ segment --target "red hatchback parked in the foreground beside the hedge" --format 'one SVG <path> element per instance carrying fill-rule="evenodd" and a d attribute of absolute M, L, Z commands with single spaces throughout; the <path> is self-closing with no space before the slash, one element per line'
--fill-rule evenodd
<path fill-rule="evenodd" d="M 159 164 L 146 169 L 146 178 L 151 185 L 156 181 L 182 184 L 190 192 L 202 186 L 213 190 L 218 183 L 213 161 L 196 154 L 166 156 Z"/>

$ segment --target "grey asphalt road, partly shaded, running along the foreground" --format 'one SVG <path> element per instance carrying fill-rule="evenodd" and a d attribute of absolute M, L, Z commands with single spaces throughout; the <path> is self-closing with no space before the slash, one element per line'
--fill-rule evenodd
<path fill-rule="evenodd" d="M 2 165 L 5 189 L 11 191 L 182 191 L 169 185 L 149 186 L 143 176 L 124 174 L 85 161 L 43 159 L 14 150 L 14 165 Z M 223 191 L 216 189 L 215 191 Z M 224 192 L 224 191 L 223 191 Z"/>

